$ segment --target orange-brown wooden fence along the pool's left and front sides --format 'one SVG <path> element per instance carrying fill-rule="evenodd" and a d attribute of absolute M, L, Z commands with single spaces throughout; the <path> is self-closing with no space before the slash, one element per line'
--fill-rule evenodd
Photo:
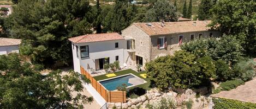
<path fill-rule="evenodd" d="M 125 91 L 108 91 L 96 81 L 82 66 L 80 66 L 81 74 L 85 75 L 91 81 L 91 85 L 106 100 L 106 102 L 126 102 Z"/>

